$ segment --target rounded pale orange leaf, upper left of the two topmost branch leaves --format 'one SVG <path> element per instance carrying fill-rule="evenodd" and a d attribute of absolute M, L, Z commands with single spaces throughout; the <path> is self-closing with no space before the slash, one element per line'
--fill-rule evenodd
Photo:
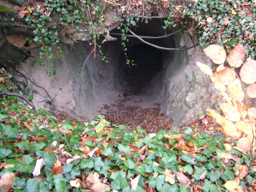
<path fill-rule="evenodd" d="M 217 44 L 211 44 L 203 49 L 205 54 L 210 57 L 212 62 L 222 64 L 226 58 L 225 49 Z"/>

